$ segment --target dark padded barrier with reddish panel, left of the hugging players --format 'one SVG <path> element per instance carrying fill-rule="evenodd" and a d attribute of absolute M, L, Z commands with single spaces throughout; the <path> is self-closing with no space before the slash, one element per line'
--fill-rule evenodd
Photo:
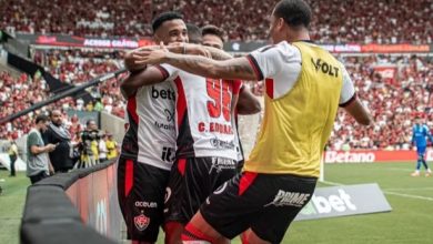
<path fill-rule="evenodd" d="M 111 244 L 121 240 L 115 163 L 56 174 L 28 187 L 22 244 Z"/>

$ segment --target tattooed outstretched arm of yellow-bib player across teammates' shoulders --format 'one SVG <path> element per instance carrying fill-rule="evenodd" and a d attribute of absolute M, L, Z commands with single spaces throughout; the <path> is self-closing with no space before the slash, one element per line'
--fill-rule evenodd
<path fill-rule="evenodd" d="M 163 49 L 142 52 L 142 59 L 137 62 L 138 64 L 169 63 L 187 72 L 207 78 L 246 81 L 259 80 L 250 61 L 243 57 L 216 61 L 199 55 L 177 54 Z"/>

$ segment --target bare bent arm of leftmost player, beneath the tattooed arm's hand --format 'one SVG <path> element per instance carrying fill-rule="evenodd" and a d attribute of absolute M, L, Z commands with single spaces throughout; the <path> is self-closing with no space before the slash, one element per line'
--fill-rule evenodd
<path fill-rule="evenodd" d="M 123 96 L 130 98 L 135 93 L 135 91 L 149 84 L 155 84 L 164 81 L 168 78 L 168 74 L 164 74 L 163 71 L 157 67 L 149 67 L 137 73 L 131 73 L 120 85 Z"/>

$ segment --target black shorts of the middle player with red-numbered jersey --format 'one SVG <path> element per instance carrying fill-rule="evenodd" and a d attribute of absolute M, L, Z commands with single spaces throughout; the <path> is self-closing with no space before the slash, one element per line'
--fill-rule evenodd
<path fill-rule="evenodd" d="M 236 174 L 236 165 L 223 157 L 177 160 L 167 189 L 164 221 L 187 224 L 204 200 Z"/>

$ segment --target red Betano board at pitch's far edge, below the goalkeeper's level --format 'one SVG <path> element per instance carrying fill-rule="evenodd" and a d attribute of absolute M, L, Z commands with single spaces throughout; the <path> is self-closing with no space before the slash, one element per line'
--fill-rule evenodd
<path fill-rule="evenodd" d="M 326 151 L 323 160 L 325 163 L 386 163 L 386 162 L 414 162 L 416 151 Z M 433 161 L 433 150 L 427 150 L 426 160 Z"/>

